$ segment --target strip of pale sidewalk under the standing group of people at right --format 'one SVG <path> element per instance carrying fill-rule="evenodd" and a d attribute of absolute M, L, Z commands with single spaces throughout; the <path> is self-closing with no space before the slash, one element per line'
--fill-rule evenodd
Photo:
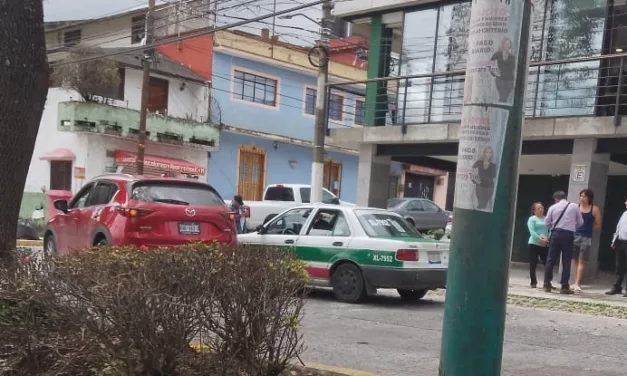
<path fill-rule="evenodd" d="M 556 268 L 557 269 L 557 268 Z M 608 291 L 614 284 L 614 274 L 607 272 L 599 272 L 596 279 L 592 281 L 584 280 L 581 293 L 574 295 L 561 295 L 559 290 L 553 293 L 547 293 L 542 289 L 542 276 L 544 275 L 544 267 L 538 266 L 538 288 L 532 289 L 529 286 L 529 266 L 528 264 L 512 263 L 509 271 L 509 294 L 522 295 L 534 298 L 548 298 L 565 301 L 577 301 L 593 304 L 607 304 L 616 307 L 627 307 L 627 298 L 622 295 L 608 296 Z M 559 283 L 559 273 L 555 273 L 553 277 L 553 285 Z"/>

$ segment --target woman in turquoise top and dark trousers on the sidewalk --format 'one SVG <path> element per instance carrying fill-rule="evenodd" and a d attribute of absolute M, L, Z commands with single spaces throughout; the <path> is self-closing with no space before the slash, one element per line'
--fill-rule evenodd
<path fill-rule="evenodd" d="M 531 205 L 531 216 L 527 220 L 529 229 L 529 278 L 531 288 L 538 286 L 536 278 L 536 268 L 538 261 L 546 265 L 549 244 L 549 229 L 544 224 L 544 206 L 541 202 Z"/>

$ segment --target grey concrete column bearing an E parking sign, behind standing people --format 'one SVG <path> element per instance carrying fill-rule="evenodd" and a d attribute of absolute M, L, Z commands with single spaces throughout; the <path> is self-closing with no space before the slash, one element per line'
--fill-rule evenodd
<path fill-rule="evenodd" d="M 568 201 L 578 204 L 579 193 L 584 189 L 591 189 L 594 192 L 594 205 L 598 206 L 601 213 L 603 213 L 610 156 L 609 154 L 595 154 L 596 149 L 597 139 L 575 139 L 571 157 L 570 179 L 568 181 Z M 598 231 L 592 237 L 590 261 L 586 264 L 584 273 L 584 279 L 586 280 L 597 276 L 599 267 L 599 237 L 600 232 Z M 575 270 L 571 271 L 571 283 L 574 282 L 575 272 Z"/>

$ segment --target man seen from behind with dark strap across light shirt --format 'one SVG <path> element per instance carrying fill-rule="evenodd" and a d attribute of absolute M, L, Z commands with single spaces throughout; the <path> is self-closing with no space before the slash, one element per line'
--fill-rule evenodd
<path fill-rule="evenodd" d="M 555 204 L 549 208 L 544 224 L 551 231 L 549 239 L 549 255 L 544 268 L 544 291 L 553 291 L 553 268 L 562 256 L 562 278 L 560 283 L 562 294 L 574 294 L 570 289 L 570 264 L 573 258 L 573 242 L 575 231 L 583 226 L 583 217 L 577 205 L 566 201 L 566 193 L 557 191 L 553 194 Z"/>

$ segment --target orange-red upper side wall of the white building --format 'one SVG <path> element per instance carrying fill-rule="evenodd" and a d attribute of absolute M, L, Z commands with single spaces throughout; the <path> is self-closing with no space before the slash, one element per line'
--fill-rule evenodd
<path fill-rule="evenodd" d="M 211 80 L 213 66 L 213 34 L 201 35 L 161 45 L 157 50 L 174 61 L 178 61 L 197 75 Z"/>

